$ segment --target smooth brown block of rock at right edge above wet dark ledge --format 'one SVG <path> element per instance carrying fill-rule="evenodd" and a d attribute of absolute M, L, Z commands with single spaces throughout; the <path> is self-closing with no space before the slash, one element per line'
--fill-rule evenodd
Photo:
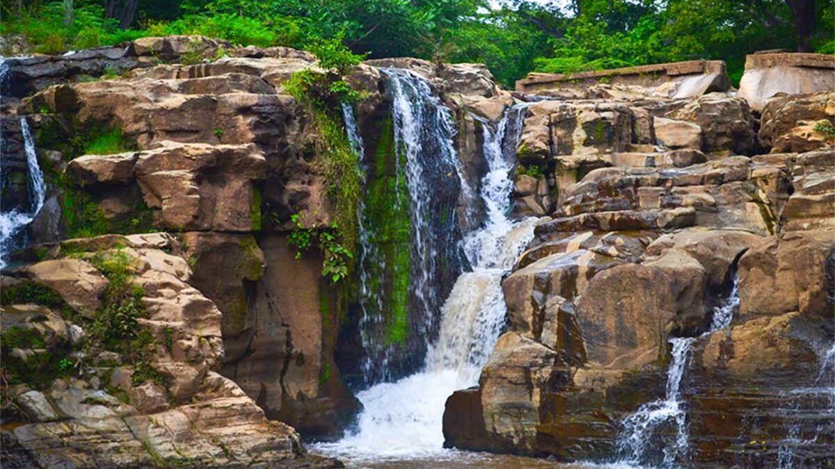
<path fill-rule="evenodd" d="M 739 261 L 740 315 L 799 311 L 832 318 L 835 236 L 832 229 L 772 236 Z M 779 292 L 779 293 L 775 293 Z"/>

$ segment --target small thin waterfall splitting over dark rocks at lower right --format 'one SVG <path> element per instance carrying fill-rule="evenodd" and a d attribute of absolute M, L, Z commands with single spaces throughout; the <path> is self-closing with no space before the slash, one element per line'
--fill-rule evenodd
<path fill-rule="evenodd" d="M 733 313 L 738 307 L 739 290 L 737 279 L 734 277 L 731 294 L 714 308 L 711 328 L 705 334 L 726 329 L 731 325 Z M 674 426 L 676 438 L 673 441 L 663 441 L 663 466 L 674 467 L 677 460 L 686 457 L 689 444 L 687 414 L 681 401 L 681 378 L 684 376 L 695 341 L 695 337 L 671 337 L 672 361 L 667 370 L 665 397 L 645 403 L 621 422 L 623 429 L 617 442 L 617 450 L 623 455 L 620 462 L 639 465 L 653 443 L 653 434 L 669 425 Z"/>

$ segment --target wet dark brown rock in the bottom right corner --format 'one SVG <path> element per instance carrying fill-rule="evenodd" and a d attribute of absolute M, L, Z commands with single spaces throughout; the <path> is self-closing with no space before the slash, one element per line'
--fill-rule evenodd
<path fill-rule="evenodd" d="M 810 389 L 820 376 L 822 348 L 831 347 L 832 318 L 787 313 L 748 320 L 696 342 L 682 381 L 690 403 L 694 458 L 733 464 L 750 441 L 780 447 L 792 434 L 817 435 L 802 445 L 804 464 L 832 457 L 826 391 Z M 762 416 L 757 422 L 751 415 Z M 799 449 L 799 448 L 798 448 Z M 778 451 L 757 456 L 777 466 Z M 822 462 L 826 464 L 826 462 Z"/>

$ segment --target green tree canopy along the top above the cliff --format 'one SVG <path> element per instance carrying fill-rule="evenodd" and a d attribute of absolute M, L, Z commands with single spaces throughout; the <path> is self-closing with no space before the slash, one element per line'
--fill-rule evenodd
<path fill-rule="evenodd" d="M 0 34 L 63 53 L 163 34 L 310 49 L 340 41 L 371 58 L 486 63 L 512 87 L 571 73 L 695 58 L 739 79 L 745 55 L 835 53 L 835 0 L 3 0 Z"/>

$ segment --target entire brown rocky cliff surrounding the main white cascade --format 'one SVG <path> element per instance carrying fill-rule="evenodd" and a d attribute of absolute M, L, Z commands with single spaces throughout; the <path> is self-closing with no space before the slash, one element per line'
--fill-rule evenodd
<path fill-rule="evenodd" d="M 500 121 L 519 136 L 514 217 L 540 219 L 479 386 L 447 402 L 446 444 L 611 459 L 683 356 L 687 457 L 831 461 L 814 388 L 835 334 L 831 90 L 754 106 L 700 62 L 509 93 L 477 64 L 362 63 L 341 78 L 362 93 L 342 111 L 364 238 L 338 283 L 296 238 L 298 220 L 316 235 L 345 215 L 326 133 L 288 89 L 325 72 L 310 54 L 142 38 L 6 65 L 3 210 L 33 204 L 23 124 L 47 191 L 3 270 L 4 464 L 338 466 L 300 434 L 338 437 L 352 390 L 422 366 L 469 269 Z M 409 99 L 425 121 L 404 136 Z M 451 158 L 401 158 L 410 144 Z M 669 423 L 638 452 L 663 454 Z"/>

